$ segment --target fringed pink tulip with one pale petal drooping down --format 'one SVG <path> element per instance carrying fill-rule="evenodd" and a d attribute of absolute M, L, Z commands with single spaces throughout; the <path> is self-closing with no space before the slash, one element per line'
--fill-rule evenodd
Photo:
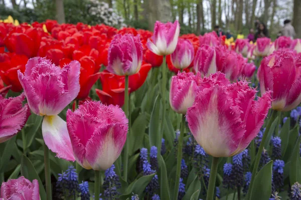
<path fill-rule="evenodd" d="M 19 80 L 31 110 L 45 115 L 42 123 L 43 138 L 57 156 L 74 161 L 71 141 L 66 122 L 59 114 L 77 96 L 80 63 L 72 61 L 62 69 L 42 57 L 31 58 L 23 74 L 18 71 Z"/>

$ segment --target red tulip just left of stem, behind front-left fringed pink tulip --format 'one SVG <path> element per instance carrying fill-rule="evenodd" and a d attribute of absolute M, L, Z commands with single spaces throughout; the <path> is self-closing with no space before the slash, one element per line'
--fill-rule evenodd
<path fill-rule="evenodd" d="M 124 80 L 120 76 L 105 70 L 100 72 L 100 81 L 102 90 L 95 90 L 101 102 L 107 105 L 113 104 L 122 107 L 124 104 L 124 87 L 121 87 L 121 84 L 124 83 Z"/>

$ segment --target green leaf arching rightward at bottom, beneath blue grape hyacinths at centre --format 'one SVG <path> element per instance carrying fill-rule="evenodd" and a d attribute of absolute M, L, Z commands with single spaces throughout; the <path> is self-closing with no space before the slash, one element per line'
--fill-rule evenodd
<path fill-rule="evenodd" d="M 126 198 L 130 197 L 132 195 L 132 193 L 138 194 L 139 197 L 142 196 L 145 187 L 150 182 L 150 180 L 153 179 L 154 176 L 155 176 L 155 173 L 150 174 L 150 175 L 144 175 L 144 176 L 140 177 L 139 179 L 133 181 L 132 183 L 130 183 L 130 185 L 128 185 L 124 194 L 120 195 L 119 197 L 122 199 L 126 199 Z"/>

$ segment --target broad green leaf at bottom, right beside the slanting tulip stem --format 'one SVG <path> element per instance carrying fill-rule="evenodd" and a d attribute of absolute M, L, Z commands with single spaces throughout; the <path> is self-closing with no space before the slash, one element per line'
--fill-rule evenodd
<path fill-rule="evenodd" d="M 272 166 L 271 160 L 255 176 L 251 200 L 269 199 L 272 192 Z"/>

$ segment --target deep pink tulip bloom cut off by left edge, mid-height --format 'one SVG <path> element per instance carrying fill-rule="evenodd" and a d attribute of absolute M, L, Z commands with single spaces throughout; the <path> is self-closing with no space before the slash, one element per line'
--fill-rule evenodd
<path fill-rule="evenodd" d="M 0 95 L 0 143 L 15 136 L 25 125 L 30 109 L 27 103 L 22 105 L 24 98 L 24 93 L 10 98 Z"/>

